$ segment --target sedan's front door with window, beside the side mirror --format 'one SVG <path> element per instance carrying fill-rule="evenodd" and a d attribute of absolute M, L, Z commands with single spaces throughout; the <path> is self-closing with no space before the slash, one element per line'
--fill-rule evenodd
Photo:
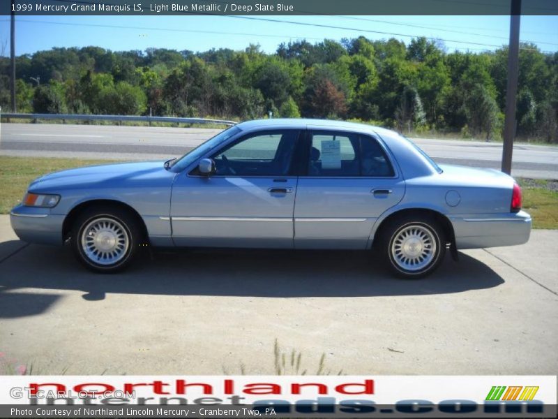
<path fill-rule="evenodd" d="M 211 154 L 216 173 L 181 173 L 172 188 L 178 246 L 293 247 L 298 130 L 248 133 Z"/>

